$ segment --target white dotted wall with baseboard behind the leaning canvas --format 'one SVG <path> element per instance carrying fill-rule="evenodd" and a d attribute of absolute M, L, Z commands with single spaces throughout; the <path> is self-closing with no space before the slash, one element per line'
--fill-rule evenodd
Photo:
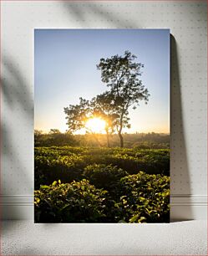
<path fill-rule="evenodd" d="M 170 28 L 171 218 L 206 218 L 206 1 L 2 1 L 3 218 L 33 218 L 33 29 Z"/>

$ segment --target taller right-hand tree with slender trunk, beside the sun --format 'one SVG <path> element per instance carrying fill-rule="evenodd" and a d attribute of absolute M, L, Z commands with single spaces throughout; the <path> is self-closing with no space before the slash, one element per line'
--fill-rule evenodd
<path fill-rule="evenodd" d="M 144 67 L 134 60 L 137 57 L 129 51 L 124 56 L 114 55 L 111 58 L 100 59 L 97 68 L 101 71 L 101 79 L 109 88 L 105 97 L 110 99 L 110 108 L 114 110 L 116 130 L 119 135 L 120 146 L 124 146 L 122 131 L 124 127 L 130 128 L 129 107 L 136 109 L 141 100 L 147 104 L 149 92 L 142 84 L 140 75 Z"/>

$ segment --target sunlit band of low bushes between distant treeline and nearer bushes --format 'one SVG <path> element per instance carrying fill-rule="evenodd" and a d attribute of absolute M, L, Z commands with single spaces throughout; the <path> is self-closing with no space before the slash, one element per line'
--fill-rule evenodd
<path fill-rule="evenodd" d="M 118 166 L 129 174 L 138 170 L 149 174 L 170 174 L 170 150 L 127 148 L 90 148 L 52 146 L 35 148 L 35 188 L 62 182 L 79 181 L 89 165 Z M 97 174 L 96 174 L 97 175 Z"/>

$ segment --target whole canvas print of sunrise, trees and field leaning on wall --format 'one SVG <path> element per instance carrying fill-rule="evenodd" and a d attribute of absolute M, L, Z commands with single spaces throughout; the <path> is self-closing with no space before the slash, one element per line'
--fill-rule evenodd
<path fill-rule="evenodd" d="M 170 30 L 35 29 L 34 222 L 170 221 Z"/>

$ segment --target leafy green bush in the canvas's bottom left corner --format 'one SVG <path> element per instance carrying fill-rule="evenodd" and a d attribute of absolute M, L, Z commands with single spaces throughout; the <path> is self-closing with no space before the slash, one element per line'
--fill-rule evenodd
<path fill-rule="evenodd" d="M 103 222 L 106 193 L 86 180 L 64 184 L 58 181 L 50 186 L 41 186 L 34 192 L 35 222 Z"/>

